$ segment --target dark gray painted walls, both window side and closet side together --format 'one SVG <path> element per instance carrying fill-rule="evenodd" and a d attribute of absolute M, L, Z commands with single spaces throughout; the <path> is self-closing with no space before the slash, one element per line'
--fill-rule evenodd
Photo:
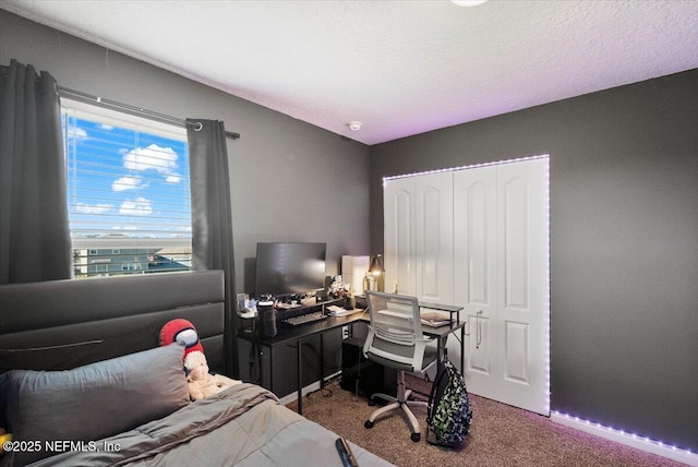
<path fill-rule="evenodd" d="M 328 273 L 381 252 L 383 176 L 550 154 L 553 409 L 698 450 L 697 71 L 369 148 L 0 10 L 11 58 L 242 134 L 228 142 L 239 290 L 257 241 L 326 241 Z"/>

